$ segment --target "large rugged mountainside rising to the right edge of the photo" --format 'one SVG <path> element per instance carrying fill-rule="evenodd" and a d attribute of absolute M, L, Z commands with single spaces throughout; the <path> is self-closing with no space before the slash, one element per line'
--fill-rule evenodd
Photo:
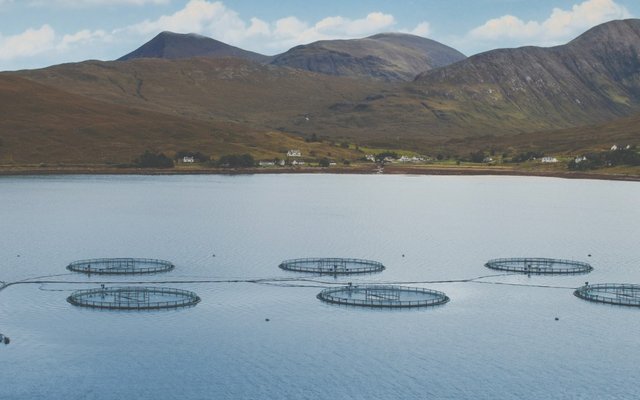
<path fill-rule="evenodd" d="M 630 116 L 640 111 L 639 26 L 637 19 L 612 21 L 563 46 L 472 56 L 391 91 L 337 102 L 313 128 L 350 125 L 369 143 L 429 147 Z"/>

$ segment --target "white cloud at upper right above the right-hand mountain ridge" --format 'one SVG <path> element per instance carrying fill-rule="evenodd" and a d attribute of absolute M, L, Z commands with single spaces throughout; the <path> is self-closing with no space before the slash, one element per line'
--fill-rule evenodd
<path fill-rule="evenodd" d="M 599 23 L 629 17 L 631 13 L 614 0 L 586 0 L 569 10 L 554 8 L 551 15 L 541 22 L 523 21 L 513 15 L 494 18 L 471 30 L 467 39 L 475 42 L 554 45 L 572 39 Z"/>

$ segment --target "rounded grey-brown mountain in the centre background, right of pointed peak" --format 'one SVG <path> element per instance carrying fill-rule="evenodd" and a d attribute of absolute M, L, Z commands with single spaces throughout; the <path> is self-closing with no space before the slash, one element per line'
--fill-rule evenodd
<path fill-rule="evenodd" d="M 271 63 L 328 75 L 407 81 L 423 71 L 464 59 L 459 51 L 430 39 L 383 33 L 296 46 Z"/>

